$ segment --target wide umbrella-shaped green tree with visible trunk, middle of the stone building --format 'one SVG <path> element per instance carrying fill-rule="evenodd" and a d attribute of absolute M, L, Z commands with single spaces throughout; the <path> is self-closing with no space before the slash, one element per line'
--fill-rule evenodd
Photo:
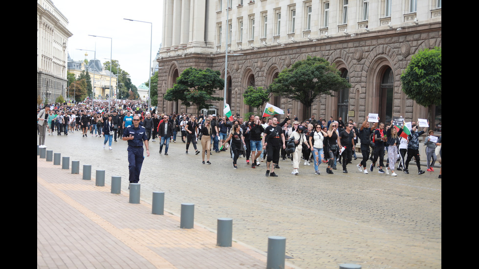
<path fill-rule="evenodd" d="M 303 119 L 309 117 L 311 106 L 323 94 L 350 88 L 351 84 L 341 78 L 341 72 L 323 58 L 310 57 L 285 68 L 268 90 L 276 96 L 299 101 L 305 106 Z"/>

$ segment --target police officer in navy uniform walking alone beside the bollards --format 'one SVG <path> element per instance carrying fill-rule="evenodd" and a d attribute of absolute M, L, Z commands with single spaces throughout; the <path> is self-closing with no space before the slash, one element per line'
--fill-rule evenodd
<path fill-rule="evenodd" d="M 128 169 L 130 171 L 130 183 L 138 183 L 143 164 L 143 143 L 146 146 L 146 156 L 150 156 L 148 148 L 148 136 L 145 127 L 140 126 L 140 117 L 133 116 L 133 125 L 123 131 L 123 141 L 128 141 Z"/>

